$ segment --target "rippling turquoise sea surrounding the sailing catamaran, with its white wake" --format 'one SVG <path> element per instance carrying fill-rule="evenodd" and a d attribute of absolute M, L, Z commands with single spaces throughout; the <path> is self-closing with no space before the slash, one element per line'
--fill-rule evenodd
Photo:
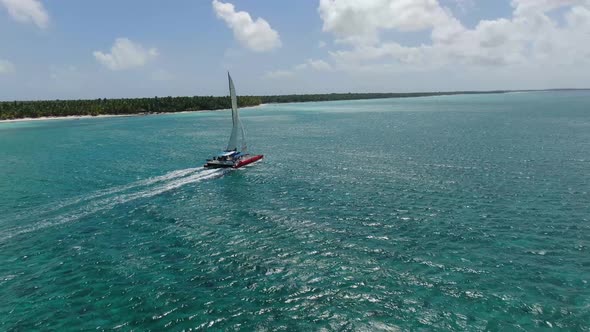
<path fill-rule="evenodd" d="M 590 330 L 590 93 L 0 124 L 0 330 Z"/>

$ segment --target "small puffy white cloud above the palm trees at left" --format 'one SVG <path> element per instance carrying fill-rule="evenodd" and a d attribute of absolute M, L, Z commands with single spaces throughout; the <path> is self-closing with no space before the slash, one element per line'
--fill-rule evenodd
<path fill-rule="evenodd" d="M 125 70 L 145 66 L 158 56 L 156 48 L 146 49 L 127 38 L 117 38 L 111 53 L 95 51 L 96 60 L 110 70 Z"/>

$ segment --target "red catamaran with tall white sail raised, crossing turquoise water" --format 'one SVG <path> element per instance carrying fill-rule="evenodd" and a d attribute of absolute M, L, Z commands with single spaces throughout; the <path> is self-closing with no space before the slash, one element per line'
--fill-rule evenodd
<path fill-rule="evenodd" d="M 244 133 L 244 126 L 240 121 L 238 115 L 238 100 L 236 97 L 236 88 L 234 82 L 231 79 L 229 73 L 227 73 L 229 80 L 229 94 L 231 97 L 231 117 L 232 117 L 232 130 L 231 136 L 229 137 L 229 143 L 225 151 L 219 153 L 211 159 L 207 159 L 207 162 L 203 167 L 206 168 L 240 168 L 248 164 L 259 161 L 264 158 L 263 155 L 250 155 L 247 153 L 246 146 L 246 134 Z M 239 133 L 241 135 L 239 135 Z M 241 149 L 238 150 L 238 136 L 241 136 Z"/>

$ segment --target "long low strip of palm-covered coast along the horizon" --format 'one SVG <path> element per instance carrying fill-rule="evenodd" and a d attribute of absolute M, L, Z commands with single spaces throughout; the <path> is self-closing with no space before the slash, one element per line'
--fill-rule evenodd
<path fill-rule="evenodd" d="M 277 96 L 239 96 L 241 108 L 265 104 L 349 101 L 389 98 L 418 98 L 455 95 L 504 94 L 551 91 L 588 91 L 590 89 L 493 90 L 408 93 L 330 93 Z M 92 100 L 40 100 L 0 102 L 0 123 L 42 120 L 76 120 L 166 113 L 206 112 L 229 109 L 228 97 L 153 97 Z"/>

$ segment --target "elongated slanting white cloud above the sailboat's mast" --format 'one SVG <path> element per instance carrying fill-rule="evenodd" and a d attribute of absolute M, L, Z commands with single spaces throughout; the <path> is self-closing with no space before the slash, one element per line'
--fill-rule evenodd
<path fill-rule="evenodd" d="M 227 23 L 233 30 L 234 37 L 244 47 L 255 52 L 266 52 L 281 46 L 279 33 L 266 20 L 257 18 L 254 21 L 245 11 L 236 12 L 231 3 L 213 0 L 212 4 L 217 17 Z"/>

